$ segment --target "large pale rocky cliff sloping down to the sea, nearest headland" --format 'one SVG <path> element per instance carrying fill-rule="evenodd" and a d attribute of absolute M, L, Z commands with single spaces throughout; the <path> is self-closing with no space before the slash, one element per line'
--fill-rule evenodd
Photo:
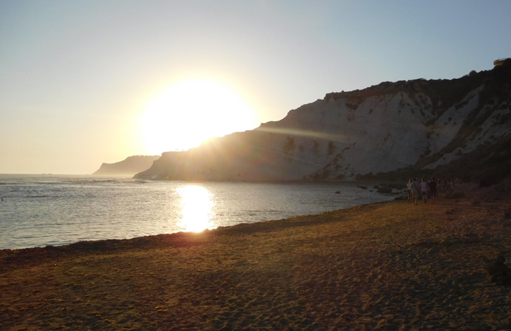
<path fill-rule="evenodd" d="M 511 134 L 511 61 L 459 79 L 384 82 L 329 93 L 281 121 L 164 153 L 136 177 L 356 180 L 432 173 Z"/>

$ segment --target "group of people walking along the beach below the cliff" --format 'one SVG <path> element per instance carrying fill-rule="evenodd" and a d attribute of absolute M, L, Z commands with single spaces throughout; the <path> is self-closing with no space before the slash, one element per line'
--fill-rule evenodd
<path fill-rule="evenodd" d="M 438 195 L 438 189 L 443 195 L 454 192 L 454 181 L 453 180 L 435 180 L 435 177 L 431 177 L 431 180 L 426 181 L 424 178 L 417 182 L 417 179 L 408 180 L 406 185 L 408 192 L 408 203 L 417 205 L 417 201 L 422 197 L 425 204 L 427 200 L 431 201 L 431 204 L 435 203 L 435 198 Z"/>

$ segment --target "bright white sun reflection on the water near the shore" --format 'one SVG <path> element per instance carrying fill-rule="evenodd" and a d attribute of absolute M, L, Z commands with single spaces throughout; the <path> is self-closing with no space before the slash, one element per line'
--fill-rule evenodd
<path fill-rule="evenodd" d="M 211 210 L 215 205 L 213 195 L 201 186 L 183 186 L 177 192 L 181 198 L 181 229 L 200 232 L 211 228 Z"/>

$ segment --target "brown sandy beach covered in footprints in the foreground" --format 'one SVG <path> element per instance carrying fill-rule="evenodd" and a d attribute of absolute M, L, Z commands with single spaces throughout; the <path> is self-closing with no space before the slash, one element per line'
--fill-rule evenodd
<path fill-rule="evenodd" d="M 511 330 L 511 199 L 482 193 L 3 250 L 0 330 Z"/>

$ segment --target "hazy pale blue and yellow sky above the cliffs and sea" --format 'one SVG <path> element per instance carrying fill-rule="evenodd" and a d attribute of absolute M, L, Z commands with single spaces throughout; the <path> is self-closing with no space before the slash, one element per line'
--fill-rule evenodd
<path fill-rule="evenodd" d="M 181 148 L 212 113 L 247 130 L 329 92 L 489 70 L 511 57 L 510 13 L 507 0 L 0 0 L 0 173 L 93 173 Z M 148 146 L 155 132 L 175 134 Z"/>

